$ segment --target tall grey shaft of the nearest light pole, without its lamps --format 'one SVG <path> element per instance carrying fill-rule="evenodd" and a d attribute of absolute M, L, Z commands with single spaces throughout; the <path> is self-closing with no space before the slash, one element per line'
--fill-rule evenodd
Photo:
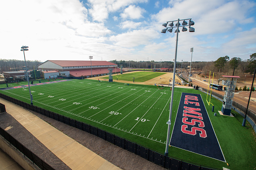
<path fill-rule="evenodd" d="M 174 59 L 174 76 L 173 76 L 173 84 L 172 84 L 172 96 L 170 97 L 170 113 L 169 113 L 169 120 L 168 130 L 167 130 L 167 138 L 166 138 L 166 147 L 165 147 L 165 155 L 168 155 L 168 147 L 169 147 L 169 140 L 170 140 L 170 123 L 172 122 L 172 112 L 173 112 L 173 101 L 174 101 L 174 84 L 175 84 L 175 73 L 176 73 L 176 59 L 177 59 L 177 48 L 178 48 L 178 35 L 179 35 L 179 22 L 178 19 L 178 26 L 177 26 L 177 36 L 176 36 L 176 50 L 175 50 L 175 59 Z"/>

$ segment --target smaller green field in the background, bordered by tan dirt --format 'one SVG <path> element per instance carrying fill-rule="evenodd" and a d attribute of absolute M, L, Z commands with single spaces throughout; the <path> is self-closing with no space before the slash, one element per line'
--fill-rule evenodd
<path fill-rule="evenodd" d="M 125 80 L 125 81 L 134 81 L 135 82 L 145 82 L 147 80 L 150 80 L 152 78 L 161 76 L 165 73 L 161 73 L 161 72 L 132 72 L 129 74 L 118 74 L 113 76 L 113 79 L 118 78 L 118 80 Z M 104 79 L 108 79 L 109 77 L 103 77 Z"/>

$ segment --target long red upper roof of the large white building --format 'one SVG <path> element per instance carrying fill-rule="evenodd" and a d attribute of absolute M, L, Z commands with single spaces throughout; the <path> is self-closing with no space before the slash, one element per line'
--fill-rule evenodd
<path fill-rule="evenodd" d="M 77 66 L 91 66 L 91 61 L 74 61 L 74 60 L 48 60 L 61 67 L 77 67 Z M 117 65 L 108 61 L 92 61 L 92 66 L 109 66 Z"/>

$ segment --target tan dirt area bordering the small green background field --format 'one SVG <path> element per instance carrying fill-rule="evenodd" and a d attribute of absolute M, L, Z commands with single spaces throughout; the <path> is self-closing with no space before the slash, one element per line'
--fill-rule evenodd
<path fill-rule="evenodd" d="M 138 71 L 134 71 L 134 72 L 138 72 Z M 134 73 L 134 72 L 127 72 L 127 73 L 123 73 L 123 74 L 130 74 L 130 73 Z M 159 85 L 159 84 L 169 84 L 169 80 L 170 83 L 172 83 L 172 79 L 173 79 L 173 75 L 174 73 L 169 73 L 169 72 L 166 72 L 165 74 L 161 75 L 161 76 L 158 76 L 158 77 L 155 77 L 153 79 L 150 79 L 148 81 L 145 81 L 145 82 L 132 82 L 132 81 L 124 81 L 124 80 L 116 80 L 114 76 L 116 76 L 117 74 L 113 74 L 113 82 L 119 82 L 119 83 L 130 83 L 130 84 L 145 84 L 145 85 Z M 103 77 L 106 77 L 107 75 L 105 76 L 99 76 L 99 77 L 92 77 L 92 78 L 88 78 L 88 79 L 93 79 L 93 80 L 102 80 L 102 81 L 109 81 L 109 79 L 106 79 L 106 78 L 103 78 Z M 179 82 L 181 83 L 181 80 L 179 78 L 176 77 L 175 79 L 176 82 Z"/>

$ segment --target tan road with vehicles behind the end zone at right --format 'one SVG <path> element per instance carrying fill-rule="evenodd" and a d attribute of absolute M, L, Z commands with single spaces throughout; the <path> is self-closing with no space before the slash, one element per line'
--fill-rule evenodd
<path fill-rule="evenodd" d="M 182 77 L 189 81 L 189 77 L 187 76 L 188 74 L 184 73 L 182 75 Z M 199 87 L 202 87 L 202 88 L 205 88 L 207 89 L 208 88 L 208 82 L 204 82 L 204 81 L 201 81 L 201 80 L 197 80 L 195 78 L 191 78 L 193 85 L 198 85 Z M 223 86 L 224 87 L 224 86 Z M 218 91 L 218 90 L 214 90 L 214 92 L 218 93 L 218 94 L 221 94 L 222 96 L 224 96 L 224 91 Z M 233 98 L 233 101 L 243 105 L 244 107 L 247 107 L 247 104 L 248 104 L 248 97 L 249 97 L 249 91 L 242 91 L 242 92 L 239 92 L 239 93 L 235 93 L 234 94 L 234 98 Z M 252 92 L 251 93 L 251 99 L 252 98 L 256 98 L 256 92 Z M 252 113 L 256 114 L 255 110 L 256 110 L 256 102 L 253 101 L 253 100 L 250 100 L 250 103 L 249 103 L 249 107 L 248 107 L 248 110 L 250 110 Z"/>

